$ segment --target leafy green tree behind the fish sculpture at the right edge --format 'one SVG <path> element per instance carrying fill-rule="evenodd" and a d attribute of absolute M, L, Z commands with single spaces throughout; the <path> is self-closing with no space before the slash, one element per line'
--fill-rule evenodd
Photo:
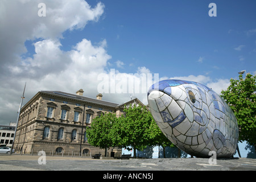
<path fill-rule="evenodd" d="M 240 129 L 239 140 L 246 140 L 256 148 L 256 76 L 248 73 L 243 79 L 231 79 L 227 90 L 222 90 L 221 97 L 236 115 Z"/>

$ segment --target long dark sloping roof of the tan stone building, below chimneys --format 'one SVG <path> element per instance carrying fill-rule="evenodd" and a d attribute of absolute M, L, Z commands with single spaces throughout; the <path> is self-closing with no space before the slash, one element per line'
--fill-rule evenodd
<path fill-rule="evenodd" d="M 71 98 L 71 99 L 75 99 L 75 100 L 79 100 L 79 101 L 89 102 L 92 104 L 100 104 L 100 105 L 105 105 L 105 106 L 110 106 L 110 107 L 116 107 L 119 105 L 114 102 L 102 101 L 102 100 L 98 100 L 96 98 L 79 96 L 77 94 L 71 94 L 71 93 L 66 93 L 66 92 L 61 92 L 61 91 L 41 91 L 40 93 L 46 93 L 46 94 L 51 94 L 53 96 Z"/>

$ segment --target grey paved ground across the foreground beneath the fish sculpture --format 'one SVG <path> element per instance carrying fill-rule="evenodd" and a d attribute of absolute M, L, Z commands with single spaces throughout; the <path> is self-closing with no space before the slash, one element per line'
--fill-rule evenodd
<path fill-rule="evenodd" d="M 43 160 L 45 159 L 45 160 Z M 43 164 L 45 162 L 45 164 Z M 0 171 L 256 171 L 256 159 L 217 159 L 209 164 L 209 159 L 169 158 L 169 159 L 90 159 L 64 156 L 30 156 L 0 154 Z"/>

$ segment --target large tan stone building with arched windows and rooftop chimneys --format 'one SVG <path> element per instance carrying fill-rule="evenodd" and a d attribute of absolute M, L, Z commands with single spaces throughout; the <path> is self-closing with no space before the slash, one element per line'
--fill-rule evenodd
<path fill-rule="evenodd" d="M 123 106 L 142 104 L 137 98 L 116 104 L 102 100 L 102 94 L 96 98 L 83 96 L 80 89 L 76 94 L 60 91 L 38 92 L 20 110 L 18 126 L 14 141 L 15 152 L 31 154 L 44 150 L 50 152 L 71 154 L 104 154 L 105 150 L 90 146 L 86 138 L 86 129 L 90 127 L 93 118 L 98 115 L 113 112 L 119 117 Z M 110 152 L 120 155 L 117 147 Z M 52 153 L 51 153 L 52 154 Z M 113 154 L 113 153 L 112 153 Z"/>

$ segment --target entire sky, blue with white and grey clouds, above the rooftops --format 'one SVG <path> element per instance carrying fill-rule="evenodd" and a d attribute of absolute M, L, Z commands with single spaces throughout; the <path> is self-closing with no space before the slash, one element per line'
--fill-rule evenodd
<path fill-rule="evenodd" d="M 79 89 L 147 104 L 164 79 L 220 94 L 238 72 L 256 74 L 255 10 L 255 0 L 0 0 L 0 124 L 16 122 L 25 83 L 23 105 Z"/>

